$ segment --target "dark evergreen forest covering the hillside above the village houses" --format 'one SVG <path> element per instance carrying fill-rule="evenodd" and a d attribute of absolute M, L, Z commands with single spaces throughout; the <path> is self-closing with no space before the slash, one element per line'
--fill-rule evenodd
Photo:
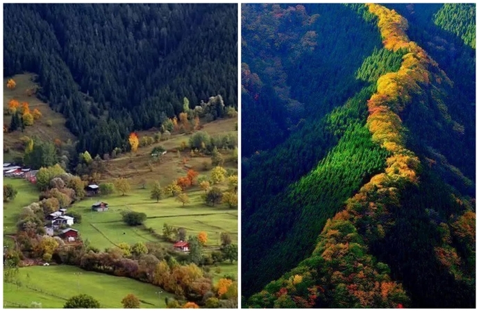
<path fill-rule="evenodd" d="M 217 95 L 237 107 L 235 4 L 3 8 L 3 76 L 38 74 L 39 97 L 67 117 L 78 152 L 125 148 L 130 132 L 183 112 L 184 97 L 190 108 Z"/>

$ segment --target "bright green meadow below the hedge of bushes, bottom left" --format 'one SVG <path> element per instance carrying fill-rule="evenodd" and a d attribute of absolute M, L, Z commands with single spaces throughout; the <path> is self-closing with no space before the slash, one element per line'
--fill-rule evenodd
<path fill-rule="evenodd" d="M 31 266 L 19 269 L 22 286 L 3 284 L 3 307 L 30 307 L 41 302 L 42 308 L 62 308 L 69 297 L 91 295 L 102 308 L 122 308 L 121 300 L 133 293 L 142 308 L 165 308 L 166 293 L 161 288 L 126 277 L 87 272 L 73 266 Z"/>

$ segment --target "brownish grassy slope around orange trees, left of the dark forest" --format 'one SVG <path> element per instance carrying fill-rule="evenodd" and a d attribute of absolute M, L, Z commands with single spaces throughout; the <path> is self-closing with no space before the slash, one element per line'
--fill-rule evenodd
<path fill-rule="evenodd" d="M 65 127 L 65 117 L 51 110 L 47 103 L 40 101 L 38 98 L 33 96 L 28 96 L 26 90 L 36 87 L 33 83 L 34 75 L 31 73 L 24 73 L 20 75 L 13 76 L 13 80 L 17 83 L 15 89 L 8 89 L 7 87 L 3 88 L 3 108 L 8 109 L 8 102 L 15 98 L 19 103 L 27 102 L 30 110 L 33 111 L 35 108 L 40 110 L 42 113 L 42 118 L 35 121 L 31 127 L 26 127 L 24 132 L 15 131 L 12 133 L 6 133 L 3 135 L 3 148 L 10 148 L 9 153 L 3 153 L 4 161 L 11 161 L 15 156 L 20 155 L 18 149 L 22 149 L 20 145 L 19 138 L 23 136 L 27 137 L 39 137 L 43 141 L 53 141 L 54 139 L 60 139 L 60 141 L 67 141 L 67 139 L 74 140 L 75 137 L 71 132 Z M 6 86 L 7 78 L 3 79 L 3 86 Z M 3 124 L 10 125 L 12 116 L 3 116 Z M 49 127 L 47 121 L 51 121 L 52 125 Z"/>

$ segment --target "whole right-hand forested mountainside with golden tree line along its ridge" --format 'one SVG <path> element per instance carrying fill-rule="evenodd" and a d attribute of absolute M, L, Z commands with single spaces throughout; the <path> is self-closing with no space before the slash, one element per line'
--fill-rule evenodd
<path fill-rule="evenodd" d="M 471 5 L 243 6 L 244 307 L 475 306 L 470 29 Z"/>

